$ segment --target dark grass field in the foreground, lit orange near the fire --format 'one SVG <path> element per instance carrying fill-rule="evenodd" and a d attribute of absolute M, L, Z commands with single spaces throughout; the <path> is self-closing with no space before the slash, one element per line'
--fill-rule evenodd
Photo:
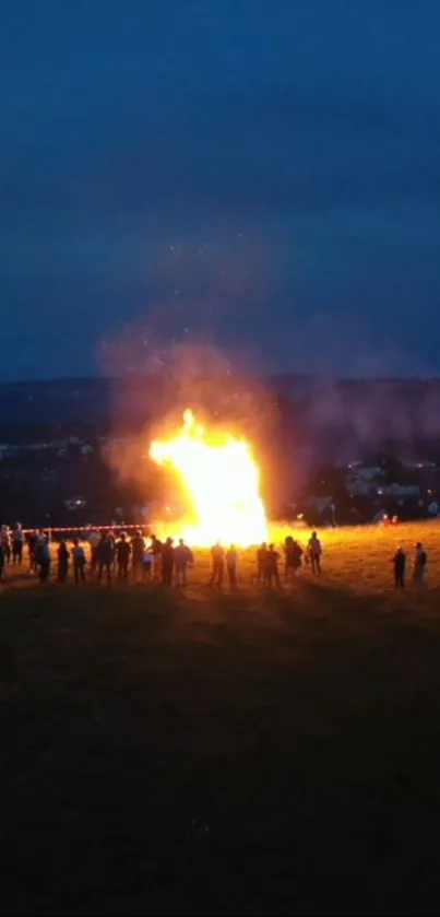
<path fill-rule="evenodd" d="M 323 541 L 280 593 L 1 587 L 1 913 L 438 913 L 440 528 Z"/>

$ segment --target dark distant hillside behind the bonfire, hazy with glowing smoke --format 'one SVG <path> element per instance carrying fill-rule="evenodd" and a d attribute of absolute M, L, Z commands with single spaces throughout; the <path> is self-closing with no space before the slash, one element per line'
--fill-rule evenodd
<path fill-rule="evenodd" d="M 224 375 L 3 384 L 2 518 L 19 517 L 26 525 L 45 518 L 68 524 L 64 502 L 74 497 L 87 504 L 79 524 L 92 517 L 107 521 L 115 507 L 134 518 L 133 505 L 157 496 L 146 486 L 142 458 L 150 432 L 170 411 L 176 416 L 188 404 L 213 421 L 233 422 L 249 437 L 262 468 L 267 506 L 276 515 L 285 512 L 312 472 L 332 465 L 366 460 L 378 450 L 395 460 L 440 463 L 436 379 Z M 361 518 L 373 515 L 368 508 Z M 344 521 L 346 517 L 344 510 Z"/>

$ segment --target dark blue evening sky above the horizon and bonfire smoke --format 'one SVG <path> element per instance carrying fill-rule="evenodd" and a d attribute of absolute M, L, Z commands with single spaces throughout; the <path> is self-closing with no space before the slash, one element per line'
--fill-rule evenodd
<path fill-rule="evenodd" d="M 438 0 L 1 0 L 2 378 L 440 373 Z"/>

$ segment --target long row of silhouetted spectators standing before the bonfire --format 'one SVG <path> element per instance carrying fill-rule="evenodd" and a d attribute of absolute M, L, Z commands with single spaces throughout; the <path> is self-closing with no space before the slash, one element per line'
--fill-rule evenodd
<path fill-rule="evenodd" d="M 156 536 L 144 536 L 138 530 L 132 537 L 121 532 L 118 537 L 111 530 L 90 531 L 86 542 L 79 537 L 52 542 L 47 532 L 24 532 L 17 522 L 12 529 L 0 529 L 0 579 L 8 566 L 22 567 L 27 549 L 28 574 L 38 576 L 41 583 L 52 577 L 67 583 L 70 574 L 75 583 L 88 581 L 111 584 L 114 578 L 133 583 L 160 581 L 164 586 L 186 586 L 188 571 L 194 563 L 191 549 L 179 539 L 160 541 Z M 284 542 L 284 575 L 288 580 L 298 576 L 304 564 L 310 565 L 313 574 L 321 573 L 322 546 L 317 532 L 304 549 L 292 537 Z M 281 585 L 280 564 L 282 554 L 274 544 L 261 544 L 257 551 L 257 581 Z M 227 580 L 234 587 L 239 580 L 239 552 L 235 544 L 225 548 L 221 542 L 211 549 L 210 585 L 222 587 Z"/>

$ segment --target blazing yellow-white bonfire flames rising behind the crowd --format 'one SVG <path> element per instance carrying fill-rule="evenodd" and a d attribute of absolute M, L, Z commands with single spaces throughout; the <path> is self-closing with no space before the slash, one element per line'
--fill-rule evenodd
<path fill-rule="evenodd" d="M 174 468 L 189 494 L 193 519 L 181 534 L 191 544 L 246 548 L 266 539 L 259 469 L 245 439 L 210 435 L 187 410 L 180 432 L 153 443 L 150 457 Z"/>

